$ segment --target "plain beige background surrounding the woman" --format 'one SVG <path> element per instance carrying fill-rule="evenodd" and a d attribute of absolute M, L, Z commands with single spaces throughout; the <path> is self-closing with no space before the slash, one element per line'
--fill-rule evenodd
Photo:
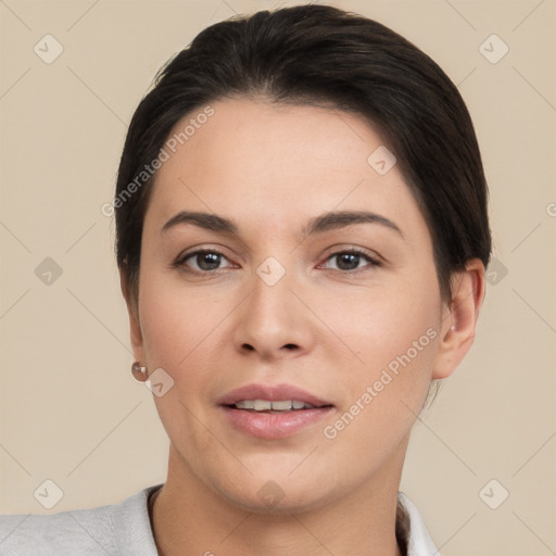
<path fill-rule="evenodd" d="M 491 190 L 496 276 L 471 353 L 415 426 L 402 490 L 444 556 L 556 554 L 556 1 L 329 3 L 446 71 Z M 0 3 L 1 513 L 117 503 L 164 481 L 168 441 L 129 371 L 114 224 L 100 206 L 156 70 L 211 23 L 279 4 Z M 51 64 L 34 52 L 47 34 L 64 49 Z M 509 47 L 496 64 L 479 51 L 492 34 Z M 50 285 L 35 274 L 46 257 L 62 269 Z M 34 496 L 46 479 L 63 491 L 50 510 Z M 491 479 L 491 504 L 509 492 L 497 509 L 479 496 Z"/>

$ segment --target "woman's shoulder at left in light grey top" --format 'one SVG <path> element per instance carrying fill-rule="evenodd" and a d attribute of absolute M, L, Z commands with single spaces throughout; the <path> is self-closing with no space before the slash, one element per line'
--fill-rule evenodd
<path fill-rule="evenodd" d="M 51 515 L 0 516 L 0 555 L 106 556 L 125 552 L 155 556 L 147 500 L 159 486 L 143 489 L 121 504 Z"/>

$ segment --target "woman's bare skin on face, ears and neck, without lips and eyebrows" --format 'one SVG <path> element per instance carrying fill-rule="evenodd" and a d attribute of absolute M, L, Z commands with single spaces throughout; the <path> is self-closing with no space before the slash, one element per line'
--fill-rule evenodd
<path fill-rule="evenodd" d="M 359 116 L 245 98 L 212 106 L 214 115 L 159 170 L 138 303 L 122 275 L 135 356 L 174 380 L 154 397 L 170 440 L 154 507 L 159 549 L 397 555 L 395 502 L 410 428 L 431 380 L 448 377 L 471 346 L 483 265 L 472 260 L 455 274 L 453 299 L 441 302 L 425 219 L 397 166 L 380 176 L 368 164 L 382 141 Z M 229 218 L 238 235 L 193 224 L 161 231 L 184 210 Z M 376 223 L 302 235 L 330 211 L 377 213 L 403 237 Z M 224 254 L 217 270 L 195 274 L 203 257 L 174 265 L 201 248 Z M 359 256 L 356 270 L 340 266 L 332 255 L 353 248 L 380 264 Z M 256 274 L 268 256 L 286 270 L 271 287 Z M 435 338 L 326 438 L 325 426 L 428 329 Z M 295 384 L 334 407 L 292 437 L 257 439 L 231 427 L 216 405 L 252 382 Z M 271 507 L 258 494 L 268 481 L 282 496 Z"/>

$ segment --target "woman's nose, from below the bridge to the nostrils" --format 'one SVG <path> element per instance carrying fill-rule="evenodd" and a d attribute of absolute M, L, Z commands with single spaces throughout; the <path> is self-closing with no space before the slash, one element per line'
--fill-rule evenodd
<path fill-rule="evenodd" d="M 251 294 L 236 314 L 237 350 L 265 362 L 308 353 L 315 342 L 315 323 L 289 273 L 273 286 L 255 274 L 252 283 Z"/>

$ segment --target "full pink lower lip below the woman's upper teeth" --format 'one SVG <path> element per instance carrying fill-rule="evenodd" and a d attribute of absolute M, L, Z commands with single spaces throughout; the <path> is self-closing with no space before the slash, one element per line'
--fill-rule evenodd
<path fill-rule="evenodd" d="M 220 406 L 228 421 L 237 429 L 261 439 L 283 439 L 291 437 L 302 429 L 315 425 L 332 407 L 299 409 L 288 413 L 255 413 L 235 407 Z"/>

